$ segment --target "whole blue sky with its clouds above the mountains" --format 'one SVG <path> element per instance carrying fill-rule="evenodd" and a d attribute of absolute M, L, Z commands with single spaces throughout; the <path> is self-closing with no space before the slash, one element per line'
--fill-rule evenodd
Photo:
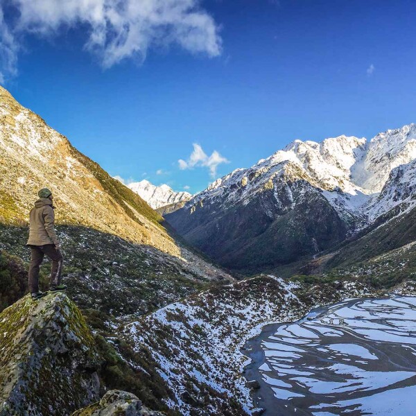
<path fill-rule="evenodd" d="M 0 78 L 112 175 L 196 192 L 293 139 L 416 122 L 415 1 L 166 0 L 165 25 L 129 11 L 130 43 L 107 1 L 0 0 Z"/>

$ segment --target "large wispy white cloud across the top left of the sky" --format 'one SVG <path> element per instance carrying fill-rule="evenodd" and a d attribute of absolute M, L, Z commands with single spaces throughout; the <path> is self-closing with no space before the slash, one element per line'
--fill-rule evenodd
<path fill-rule="evenodd" d="M 4 3 L 1 1 L 0 3 Z M 133 58 L 142 62 L 148 49 L 172 44 L 191 53 L 220 55 L 219 28 L 199 0 L 8 0 L 19 16 L 3 19 L 0 5 L 1 70 L 17 71 L 17 53 L 28 33 L 55 37 L 65 28 L 87 28 L 85 50 L 104 68 Z"/>

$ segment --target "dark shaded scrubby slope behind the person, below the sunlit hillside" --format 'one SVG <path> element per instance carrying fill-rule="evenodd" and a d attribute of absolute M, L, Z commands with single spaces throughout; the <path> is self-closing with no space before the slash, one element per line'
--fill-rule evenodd
<path fill-rule="evenodd" d="M 114 325 L 125 315 L 138 317 L 197 293 L 208 286 L 207 281 L 186 263 L 155 248 L 84 227 L 60 226 L 58 233 L 67 293 L 94 329 L 103 357 L 102 384 L 133 392 L 150 408 L 175 415 L 162 400 L 172 392 L 157 372 L 159 365 L 146 347 L 137 348 L 119 338 Z M 0 311 L 27 293 L 27 236 L 26 227 L 0 225 Z M 42 289 L 49 286 L 49 270 L 45 260 Z"/>

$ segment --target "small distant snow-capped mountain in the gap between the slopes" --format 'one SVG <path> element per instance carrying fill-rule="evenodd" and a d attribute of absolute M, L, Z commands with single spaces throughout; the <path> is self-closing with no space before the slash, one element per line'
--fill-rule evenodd
<path fill-rule="evenodd" d="M 166 207 L 166 205 L 178 204 L 180 202 L 187 202 L 192 198 L 189 192 L 175 192 L 166 184 L 157 187 L 148 180 L 132 182 L 131 184 L 128 184 L 128 187 L 141 196 L 141 198 L 143 198 L 153 209 Z"/>

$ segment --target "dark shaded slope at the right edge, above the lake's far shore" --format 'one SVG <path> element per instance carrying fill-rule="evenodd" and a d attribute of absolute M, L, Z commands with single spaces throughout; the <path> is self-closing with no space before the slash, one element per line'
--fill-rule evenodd
<path fill-rule="evenodd" d="M 416 209 L 293 268 L 302 281 L 360 279 L 375 288 L 416 280 Z M 296 270 L 296 271 L 295 271 Z"/>

